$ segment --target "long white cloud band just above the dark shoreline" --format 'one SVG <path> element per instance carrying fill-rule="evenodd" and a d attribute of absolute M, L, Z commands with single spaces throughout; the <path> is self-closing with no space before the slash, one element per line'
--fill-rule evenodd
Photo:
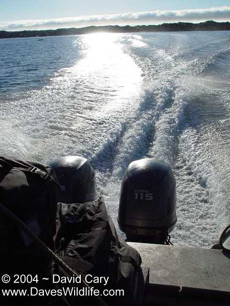
<path fill-rule="evenodd" d="M 104 14 L 80 17 L 66 17 L 40 20 L 19 20 L 11 22 L 0 22 L 0 30 L 36 30 L 36 29 L 57 29 L 70 27 L 86 27 L 87 25 L 107 24 L 158 24 L 162 22 L 178 21 L 229 21 L 230 6 L 216 7 L 210 9 L 194 9 L 180 11 L 153 11 L 123 14 Z"/>

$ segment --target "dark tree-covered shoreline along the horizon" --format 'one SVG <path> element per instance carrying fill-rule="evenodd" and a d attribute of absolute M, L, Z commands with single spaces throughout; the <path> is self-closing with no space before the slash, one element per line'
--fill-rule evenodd
<path fill-rule="evenodd" d="M 162 23 L 158 25 L 105 25 L 101 27 L 70 28 L 57 30 L 33 30 L 33 31 L 0 31 L 0 38 L 19 38 L 19 37 L 43 37 L 43 36 L 60 36 L 60 35 L 81 35 L 97 32 L 109 33 L 133 33 L 133 32 L 171 32 L 171 31 L 229 31 L 230 22 L 215 22 L 212 20 L 191 23 Z"/>

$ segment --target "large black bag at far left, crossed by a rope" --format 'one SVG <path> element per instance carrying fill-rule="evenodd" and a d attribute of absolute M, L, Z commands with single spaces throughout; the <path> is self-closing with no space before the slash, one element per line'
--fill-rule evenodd
<path fill-rule="evenodd" d="M 0 203 L 23 221 L 49 248 L 54 249 L 55 216 L 60 186 L 56 174 L 47 165 L 0 156 Z M 52 260 L 41 252 L 32 239 L 4 211 L 0 213 L 0 273 L 38 275 L 37 288 L 52 288 L 49 277 Z M 31 284 L 1 284 L 1 290 L 29 290 Z M 48 305 L 48 297 L 1 296 L 1 305 Z"/>

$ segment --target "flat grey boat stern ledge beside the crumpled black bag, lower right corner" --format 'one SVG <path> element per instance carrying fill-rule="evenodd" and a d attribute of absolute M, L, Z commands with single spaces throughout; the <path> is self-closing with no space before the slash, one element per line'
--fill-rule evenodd
<path fill-rule="evenodd" d="M 230 254 L 185 246 L 129 245 L 140 252 L 143 269 L 149 268 L 144 304 L 230 305 Z"/>

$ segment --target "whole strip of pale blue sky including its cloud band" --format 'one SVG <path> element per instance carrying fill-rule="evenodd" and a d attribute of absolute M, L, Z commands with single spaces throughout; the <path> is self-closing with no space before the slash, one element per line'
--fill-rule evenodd
<path fill-rule="evenodd" d="M 0 31 L 230 21 L 230 0 L 0 0 Z"/>

